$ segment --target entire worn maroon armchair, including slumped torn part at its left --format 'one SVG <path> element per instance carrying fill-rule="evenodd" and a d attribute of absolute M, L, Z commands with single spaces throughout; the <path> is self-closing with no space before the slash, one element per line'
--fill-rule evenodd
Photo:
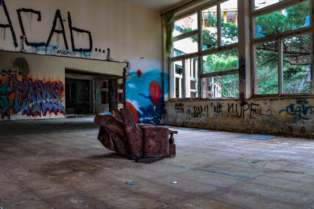
<path fill-rule="evenodd" d="M 128 108 L 111 111 L 112 114 L 98 113 L 94 118 L 100 125 L 97 139 L 108 150 L 127 155 L 129 159 L 176 155 L 173 134 L 177 131 L 165 126 L 136 124 Z"/>

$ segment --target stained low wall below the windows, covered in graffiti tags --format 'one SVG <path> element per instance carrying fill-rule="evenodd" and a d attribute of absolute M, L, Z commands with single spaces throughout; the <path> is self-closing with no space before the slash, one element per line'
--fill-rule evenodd
<path fill-rule="evenodd" d="M 314 134 L 314 99 L 276 98 L 171 101 L 165 105 L 167 125 L 248 131 Z"/>

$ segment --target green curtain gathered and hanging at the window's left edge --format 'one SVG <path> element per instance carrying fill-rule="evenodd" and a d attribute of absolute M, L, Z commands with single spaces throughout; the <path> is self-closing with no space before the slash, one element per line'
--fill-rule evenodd
<path fill-rule="evenodd" d="M 165 45 L 165 53 L 167 56 L 171 54 L 172 48 L 172 32 L 175 28 L 175 17 L 176 10 L 172 10 L 168 13 L 164 14 L 164 29 L 166 35 L 166 45 Z"/>

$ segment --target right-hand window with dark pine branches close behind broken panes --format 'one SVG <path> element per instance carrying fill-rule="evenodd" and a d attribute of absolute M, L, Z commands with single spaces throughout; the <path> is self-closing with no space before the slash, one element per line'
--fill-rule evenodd
<path fill-rule="evenodd" d="M 254 95 L 312 95 L 312 1 L 273 2 L 251 13 Z"/>

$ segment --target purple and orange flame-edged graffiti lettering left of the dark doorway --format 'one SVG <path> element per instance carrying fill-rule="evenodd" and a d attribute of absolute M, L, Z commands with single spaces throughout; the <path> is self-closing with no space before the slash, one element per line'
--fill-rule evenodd
<path fill-rule="evenodd" d="M 26 116 L 46 116 L 47 113 L 65 115 L 61 100 L 64 95 L 62 82 L 33 81 L 32 78 L 18 81 L 16 76 L 0 80 L 1 118 L 15 114 Z"/>

